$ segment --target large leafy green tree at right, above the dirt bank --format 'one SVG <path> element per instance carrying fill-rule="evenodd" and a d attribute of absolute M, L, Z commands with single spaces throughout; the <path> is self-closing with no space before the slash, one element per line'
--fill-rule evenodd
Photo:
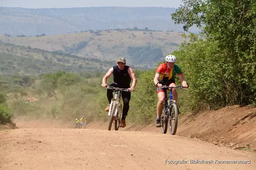
<path fill-rule="evenodd" d="M 192 76 L 191 67 L 187 67 L 186 72 L 194 79 L 193 83 L 201 84 L 192 89 L 198 91 L 198 95 L 201 95 L 198 97 L 206 101 L 211 98 L 209 104 L 225 106 L 256 101 L 255 11 L 256 2 L 248 0 L 184 0 L 183 6 L 172 14 L 175 23 L 183 24 L 185 31 L 193 25 L 201 29 L 204 41 L 190 35 L 190 42 L 183 44 L 176 54 L 184 56 L 182 60 L 186 59 L 186 62 L 198 62 L 196 72 L 199 77 Z M 201 53 L 195 52 L 193 47 Z M 200 57 L 188 57 L 191 54 L 199 54 Z M 203 71 L 207 71 L 208 75 L 204 75 Z M 211 84 L 211 81 L 215 84 Z M 208 87 L 208 90 L 204 91 L 204 87 Z"/>

